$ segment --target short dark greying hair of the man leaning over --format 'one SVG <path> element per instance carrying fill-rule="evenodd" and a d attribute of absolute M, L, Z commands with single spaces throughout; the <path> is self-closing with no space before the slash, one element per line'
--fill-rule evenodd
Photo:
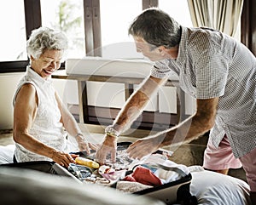
<path fill-rule="evenodd" d="M 180 42 L 181 26 L 157 8 L 145 9 L 129 27 L 128 34 L 143 39 L 154 47 L 172 48 Z"/>

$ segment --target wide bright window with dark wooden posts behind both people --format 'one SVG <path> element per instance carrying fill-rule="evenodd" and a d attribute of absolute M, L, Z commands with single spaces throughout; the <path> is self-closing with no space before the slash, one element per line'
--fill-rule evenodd
<path fill-rule="evenodd" d="M 254 4 L 253 0 L 245 1 L 241 16 L 241 42 L 253 54 Z M 149 5 L 158 5 L 181 25 L 192 26 L 187 0 L 3 0 L 0 2 L 0 72 L 25 71 L 26 38 L 38 26 L 60 26 L 67 31 L 71 48 L 68 58 L 84 57 L 85 51 L 89 55 L 96 48 L 102 48 L 102 52 L 93 55 L 143 58 L 136 53 L 127 29 L 131 20 Z M 100 21 L 85 24 L 84 13 L 99 7 Z"/>

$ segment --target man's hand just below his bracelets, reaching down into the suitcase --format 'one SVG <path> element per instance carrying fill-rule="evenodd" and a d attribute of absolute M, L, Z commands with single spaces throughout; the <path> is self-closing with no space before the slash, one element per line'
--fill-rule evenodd
<path fill-rule="evenodd" d="M 100 163 L 105 163 L 108 154 L 110 154 L 110 159 L 115 162 L 117 148 L 117 137 L 111 135 L 106 135 L 102 145 L 96 151 L 96 161 Z"/>

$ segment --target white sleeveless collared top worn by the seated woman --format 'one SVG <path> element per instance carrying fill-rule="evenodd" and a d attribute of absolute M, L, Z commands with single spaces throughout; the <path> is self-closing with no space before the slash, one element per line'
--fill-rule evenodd
<path fill-rule="evenodd" d="M 51 79 L 45 80 L 38 73 L 32 70 L 30 66 L 26 68 L 26 75 L 21 78 L 14 96 L 14 105 L 16 95 L 22 85 L 31 83 L 38 94 L 38 111 L 32 122 L 32 128 L 29 130 L 37 140 L 45 145 L 54 147 L 58 151 L 65 151 L 67 145 L 67 132 L 63 128 L 61 121 L 61 111 L 55 99 L 55 88 L 52 86 Z M 52 161 L 49 157 L 38 155 L 32 151 L 26 150 L 22 145 L 15 144 L 15 158 L 17 162 L 28 161 Z"/>

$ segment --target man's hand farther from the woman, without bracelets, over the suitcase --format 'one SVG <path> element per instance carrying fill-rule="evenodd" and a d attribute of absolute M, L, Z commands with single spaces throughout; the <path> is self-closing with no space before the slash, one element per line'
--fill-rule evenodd
<path fill-rule="evenodd" d="M 140 139 L 132 143 L 127 152 L 129 157 L 134 159 L 141 159 L 160 148 L 160 140 L 158 136 Z"/>

